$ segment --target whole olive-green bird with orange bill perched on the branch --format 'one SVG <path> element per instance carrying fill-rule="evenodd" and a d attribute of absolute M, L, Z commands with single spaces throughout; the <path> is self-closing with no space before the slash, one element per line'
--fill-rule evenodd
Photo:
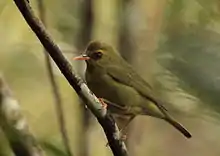
<path fill-rule="evenodd" d="M 108 105 L 110 112 L 123 120 L 126 118 L 125 125 L 137 115 L 149 115 L 167 121 L 185 137 L 191 137 L 191 134 L 168 114 L 164 102 L 155 95 L 152 87 L 112 46 L 92 41 L 85 52 L 74 60 L 86 61 L 88 87 L 102 99 L 101 102 Z"/>

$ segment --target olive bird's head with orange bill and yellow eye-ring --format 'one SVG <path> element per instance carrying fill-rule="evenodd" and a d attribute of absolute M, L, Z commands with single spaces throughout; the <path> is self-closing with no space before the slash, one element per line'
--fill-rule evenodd
<path fill-rule="evenodd" d="M 100 42 L 92 41 L 88 44 L 85 52 L 74 58 L 74 60 L 85 60 L 87 66 L 103 67 L 109 63 L 114 63 L 118 54 L 112 46 Z"/>

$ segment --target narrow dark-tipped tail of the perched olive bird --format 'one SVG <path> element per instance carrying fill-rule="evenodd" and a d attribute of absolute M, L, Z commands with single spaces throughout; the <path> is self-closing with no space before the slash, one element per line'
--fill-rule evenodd
<path fill-rule="evenodd" d="M 172 126 L 174 126 L 177 130 L 179 130 L 185 137 L 191 138 L 192 135 L 190 132 L 184 128 L 180 123 L 172 119 L 171 117 L 166 117 L 165 120 L 169 122 Z"/>

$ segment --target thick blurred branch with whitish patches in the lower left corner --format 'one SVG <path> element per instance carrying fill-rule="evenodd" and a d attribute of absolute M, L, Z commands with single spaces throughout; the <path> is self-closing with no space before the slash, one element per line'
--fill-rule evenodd
<path fill-rule="evenodd" d="M 44 156 L 44 152 L 29 131 L 18 102 L 0 76 L 0 126 L 16 156 Z"/>

